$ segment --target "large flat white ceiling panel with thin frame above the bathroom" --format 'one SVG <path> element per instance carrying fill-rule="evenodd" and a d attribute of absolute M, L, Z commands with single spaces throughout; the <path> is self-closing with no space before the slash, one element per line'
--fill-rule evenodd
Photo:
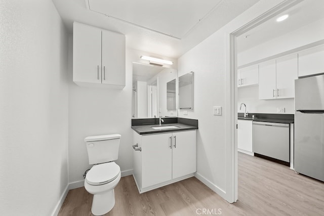
<path fill-rule="evenodd" d="M 88 0 L 89 9 L 138 27 L 183 38 L 222 0 Z"/>

